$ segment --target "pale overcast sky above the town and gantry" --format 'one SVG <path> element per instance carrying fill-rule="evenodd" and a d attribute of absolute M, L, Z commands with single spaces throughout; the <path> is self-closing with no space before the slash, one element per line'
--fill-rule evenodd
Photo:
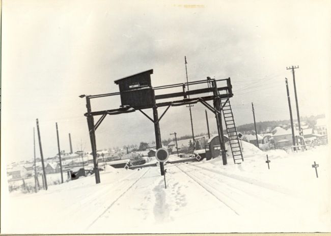
<path fill-rule="evenodd" d="M 44 157 L 57 153 L 56 122 L 61 150 L 69 151 L 69 132 L 75 151 L 80 140 L 91 150 L 78 95 L 117 92 L 114 80 L 149 69 L 153 86 L 184 82 L 185 55 L 190 81 L 231 77 L 237 125 L 253 122 L 251 102 L 257 122 L 289 119 L 285 77 L 295 108 L 286 70 L 292 65 L 300 67 L 300 115 L 327 113 L 329 7 L 329 1 L 5 0 L 2 163 L 33 158 L 36 118 Z M 93 109 L 119 105 L 119 98 L 101 99 Z M 206 132 L 204 109 L 192 111 L 195 133 Z M 210 112 L 209 122 L 215 130 Z M 187 108 L 171 108 L 160 128 L 162 139 L 190 134 Z M 155 139 L 140 112 L 108 116 L 96 135 L 98 149 Z"/>

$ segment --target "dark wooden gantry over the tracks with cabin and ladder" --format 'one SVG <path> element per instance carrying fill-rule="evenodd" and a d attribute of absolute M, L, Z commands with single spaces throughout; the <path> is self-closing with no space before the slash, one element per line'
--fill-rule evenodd
<path fill-rule="evenodd" d="M 162 119 L 163 115 L 166 114 L 168 109 L 171 106 L 182 106 L 200 102 L 215 114 L 220 143 L 220 153 L 222 154 L 223 164 L 227 164 L 227 157 L 225 153 L 225 141 L 222 138 L 224 135 L 222 127 L 222 112 L 228 136 L 230 139 L 229 142 L 234 162 L 236 163 L 236 161 L 238 160 L 243 161 L 241 149 L 239 146 L 238 134 L 235 127 L 233 113 L 229 100 L 231 97 L 233 97 L 230 78 L 210 79 L 209 77 L 207 77 L 206 80 L 153 87 L 151 83 L 151 74 L 153 74 L 153 69 L 115 80 L 114 82 L 119 85 L 120 89 L 120 92 L 118 93 L 79 96 L 81 98 L 86 97 L 87 112 L 85 113 L 85 116 L 87 117 L 89 127 L 94 163 L 94 173 L 97 184 L 100 183 L 100 175 L 97 164 L 95 131 L 107 115 L 116 115 L 140 111 L 154 124 L 156 149 L 159 149 L 162 146 L 159 122 Z M 223 86 L 218 86 L 217 83 L 223 83 Z M 187 90 L 188 86 L 198 84 L 205 87 L 196 90 Z M 179 87 L 181 88 L 181 92 L 161 93 L 160 95 L 155 95 L 155 91 L 164 91 L 167 88 Z M 92 111 L 91 99 L 118 95 L 121 97 L 121 105 L 119 108 Z M 199 96 L 193 97 L 197 95 Z M 171 101 L 164 101 L 165 99 L 171 99 Z M 160 100 L 163 100 L 163 102 L 161 102 Z M 210 105 L 208 101 L 213 101 L 213 106 Z M 158 115 L 158 107 L 167 107 L 166 110 L 164 110 L 160 116 Z M 143 111 L 144 109 L 153 109 L 153 117 L 148 116 Z M 94 116 L 100 116 L 97 122 L 94 122 Z M 231 139 L 231 137 L 233 138 Z M 239 149 L 237 150 L 238 147 Z M 160 163 L 160 173 L 161 175 L 164 175 L 163 163 Z"/>

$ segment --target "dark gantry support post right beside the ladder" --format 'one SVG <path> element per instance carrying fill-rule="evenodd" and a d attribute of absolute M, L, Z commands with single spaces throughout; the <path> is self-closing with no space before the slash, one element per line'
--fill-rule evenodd
<path fill-rule="evenodd" d="M 217 132 L 218 132 L 218 138 L 219 138 L 219 144 L 220 144 L 220 150 L 222 153 L 222 160 L 223 160 L 223 165 L 228 164 L 227 161 L 227 154 L 225 151 L 225 143 L 224 143 L 224 134 L 223 134 L 223 126 L 222 126 L 222 115 L 220 111 L 222 110 L 222 107 L 220 105 L 220 98 L 218 96 L 218 91 L 217 91 L 217 84 L 216 81 L 212 81 L 213 87 L 214 87 L 214 96 L 216 97 L 214 99 L 214 108 L 218 111 L 215 114 L 216 117 L 216 125 L 217 125 Z"/>

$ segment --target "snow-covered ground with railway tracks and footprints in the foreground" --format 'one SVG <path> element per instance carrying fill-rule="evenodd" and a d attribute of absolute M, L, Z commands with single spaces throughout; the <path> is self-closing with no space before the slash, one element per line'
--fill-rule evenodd
<path fill-rule="evenodd" d="M 222 158 L 166 164 L 167 189 L 158 166 L 109 166 L 98 185 L 90 175 L 47 191 L 8 194 L 2 233 L 331 231 L 328 146 L 291 154 L 243 147 L 241 164 L 231 156 L 226 166 Z"/>

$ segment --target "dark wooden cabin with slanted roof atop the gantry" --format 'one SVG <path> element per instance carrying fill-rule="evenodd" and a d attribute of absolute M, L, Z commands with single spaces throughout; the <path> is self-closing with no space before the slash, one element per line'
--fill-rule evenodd
<path fill-rule="evenodd" d="M 153 69 L 130 75 L 114 82 L 119 85 L 122 106 L 133 108 L 152 107 L 155 94 L 151 84 Z"/>

